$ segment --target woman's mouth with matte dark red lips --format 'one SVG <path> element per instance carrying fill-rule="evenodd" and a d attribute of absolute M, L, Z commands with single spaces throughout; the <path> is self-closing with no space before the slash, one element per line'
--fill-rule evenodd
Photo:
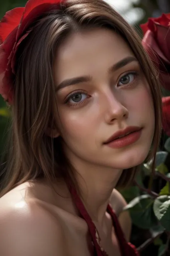
<path fill-rule="evenodd" d="M 141 132 L 142 127 L 138 126 L 128 126 L 124 130 L 119 130 L 115 132 L 104 144 L 109 144 L 114 141 L 126 140 L 127 138 L 132 138 Z"/>

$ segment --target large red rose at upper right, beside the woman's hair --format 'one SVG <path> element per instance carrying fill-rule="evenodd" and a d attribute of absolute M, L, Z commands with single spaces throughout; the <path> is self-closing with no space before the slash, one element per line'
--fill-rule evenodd
<path fill-rule="evenodd" d="M 162 86 L 170 90 L 170 13 L 149 18 L 141 28 L 144 33 L 142 44 L 151 59 L 155 57 L 159 64 Z"/>

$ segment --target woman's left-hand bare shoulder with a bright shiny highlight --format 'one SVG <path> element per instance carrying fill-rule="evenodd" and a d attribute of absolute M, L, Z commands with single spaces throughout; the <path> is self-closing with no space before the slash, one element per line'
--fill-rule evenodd
<path fill-rule="evenodd" d="M 60 220 L 34 199 L 25 201 L 24 188 L 0 198 L 0 255 L 67 255 Z"/>

